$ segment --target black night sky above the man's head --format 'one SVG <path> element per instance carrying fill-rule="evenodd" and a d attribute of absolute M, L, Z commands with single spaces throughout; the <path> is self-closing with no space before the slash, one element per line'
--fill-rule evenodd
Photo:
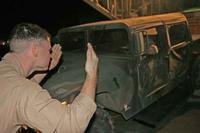
<path fill-rule="evenodd" d="M 7 0 L 0 6 L 1 40 L 8 39 L 11 29 L 21 22 L 36 23 L 55 35 L 62 27 L 108 19 L 82 0 Z"/>

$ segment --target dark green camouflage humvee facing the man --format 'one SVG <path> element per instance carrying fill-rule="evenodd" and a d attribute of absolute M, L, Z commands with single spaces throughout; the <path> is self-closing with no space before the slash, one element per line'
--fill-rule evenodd
<path fill-rule="evenodd" d="M 93 45 L 99 57 L 95 123 L 112 113 L 128 120 L 184 82 L 192 39 L 177 12 L 66 27 L 53 41 L 62 45 L 62 61 L 43 86 L 67 103 L 80 92 L 86 44 Z"/>

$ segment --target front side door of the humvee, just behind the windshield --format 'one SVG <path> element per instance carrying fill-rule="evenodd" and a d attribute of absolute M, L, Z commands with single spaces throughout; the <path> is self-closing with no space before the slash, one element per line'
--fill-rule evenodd
<path fill-rule="evenodd" d="M 166 30 L 164 26 L 146 28 L 139 32 L 139 36 L 140 91 L 142 97 L 148 98 L 164 88 L 168 82 Z"/>

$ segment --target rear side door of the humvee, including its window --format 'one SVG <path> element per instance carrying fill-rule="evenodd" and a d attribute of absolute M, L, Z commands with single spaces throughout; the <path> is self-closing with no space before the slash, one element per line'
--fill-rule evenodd
<path fill-rule="evenodd" d="M 169 72 L 170 79 L 184 76 L 189 66 L 188 44 L 191 41 L 186 22 L 167 26 L 169 40 Z"/>

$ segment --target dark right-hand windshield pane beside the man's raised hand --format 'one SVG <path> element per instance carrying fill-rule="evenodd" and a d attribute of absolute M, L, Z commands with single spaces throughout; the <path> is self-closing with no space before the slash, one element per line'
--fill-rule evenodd
<path fill-rule="evenodd" d="M 99 54 L 128 54 L 128 35 L 124 29 L 95 30 L 90 32 L 90 40 Z"/>

